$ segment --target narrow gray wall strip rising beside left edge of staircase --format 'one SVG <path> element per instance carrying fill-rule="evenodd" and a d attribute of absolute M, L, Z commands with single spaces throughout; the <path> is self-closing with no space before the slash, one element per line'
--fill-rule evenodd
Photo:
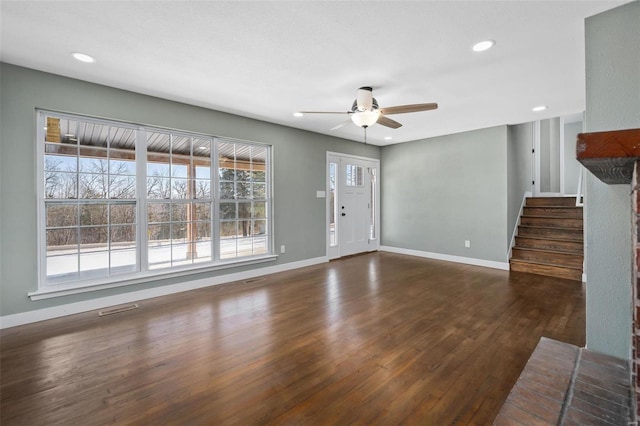
<path fill-rule="evenodd" d="M 533 123 L 507 127 L 507 248 L 518 222 L 522 198 L 531 191 Z"/>

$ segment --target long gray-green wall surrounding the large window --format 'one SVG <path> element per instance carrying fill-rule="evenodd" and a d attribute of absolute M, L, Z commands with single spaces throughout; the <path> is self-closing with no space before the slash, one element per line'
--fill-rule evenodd
<path fill-rule="evenodd" d="M 30 301 L 36 276 L 35 109 L 45 108 L 273 145 L 276 264 L 325 255 L 326 151 L 379 158 L 380 149 L 123 90 L 0 64 L 0 315 L 110 296 L 215 274 L 154 280 L 118 289 Z M 267 263 L 272 266 L 274 263 Z M 264 264 L 263 264 L 264 266 Z"/>

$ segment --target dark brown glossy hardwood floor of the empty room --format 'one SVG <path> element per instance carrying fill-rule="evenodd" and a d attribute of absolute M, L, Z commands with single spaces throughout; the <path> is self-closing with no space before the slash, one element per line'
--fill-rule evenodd
<path fill-rule="evenodd" d="M 491 424 L 581 283 L 372 253 L 3 330 L 0 423 Z"/>

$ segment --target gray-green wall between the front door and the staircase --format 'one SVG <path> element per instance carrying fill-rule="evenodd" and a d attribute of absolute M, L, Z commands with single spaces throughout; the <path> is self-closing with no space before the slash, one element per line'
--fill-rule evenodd
<path fill-rule="evenodd" d="M 507 261 L 507 126 L 383 147 L 381 170 L 383 245 Z"/>

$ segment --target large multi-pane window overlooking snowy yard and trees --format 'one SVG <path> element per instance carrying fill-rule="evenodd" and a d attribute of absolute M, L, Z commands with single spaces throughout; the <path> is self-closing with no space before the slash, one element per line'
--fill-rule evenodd
<path fill-rule="evenodd" d="M 41 287 L 270 255 L 270 148 L 40 112 Z"/>

